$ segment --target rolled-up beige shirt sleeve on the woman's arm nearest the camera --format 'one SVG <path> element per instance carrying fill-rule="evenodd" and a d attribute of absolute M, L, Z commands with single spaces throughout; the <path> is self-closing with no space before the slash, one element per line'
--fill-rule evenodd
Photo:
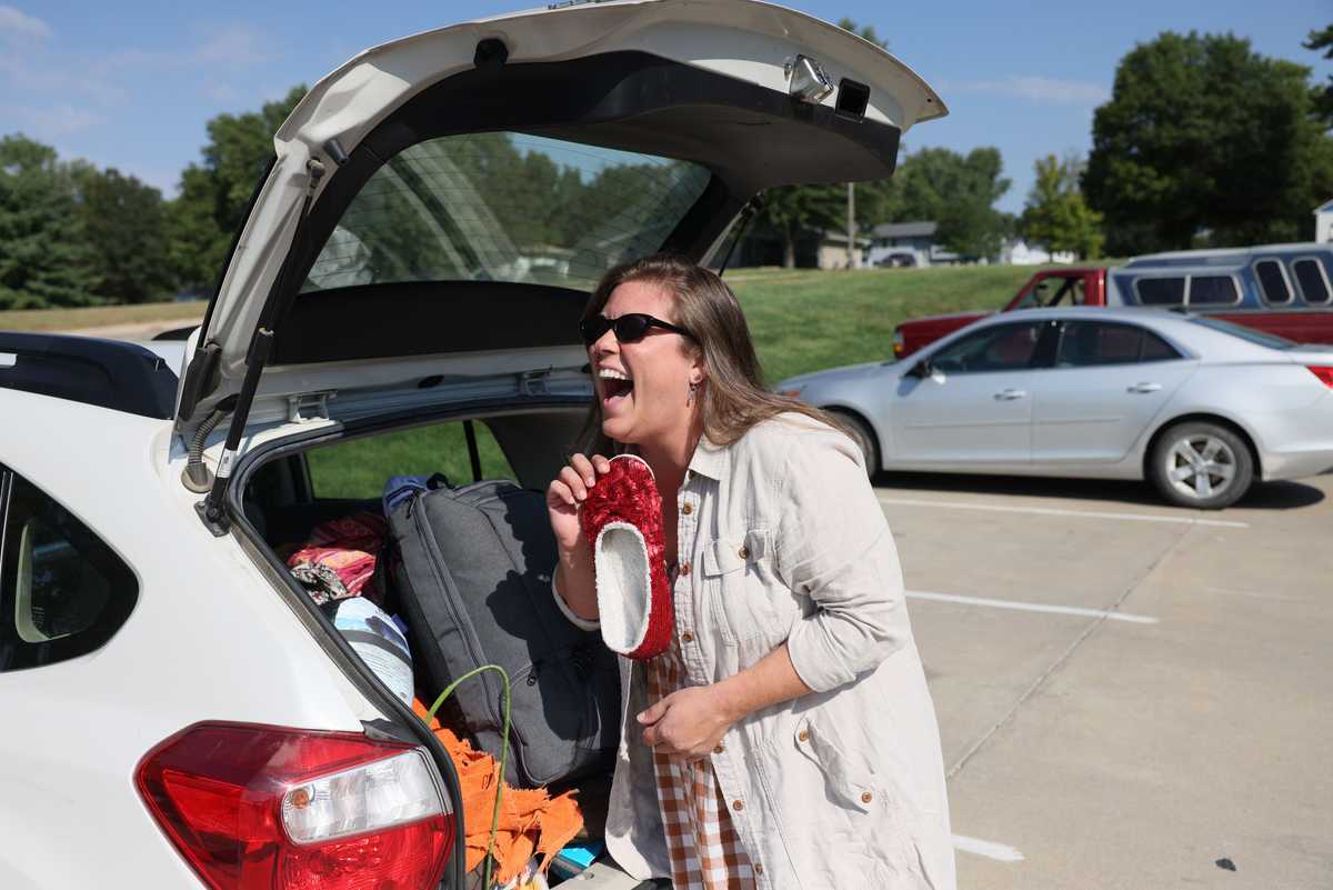
<path fill-rule="evenodd" d="M 801 681 L 826 691 L 912 640 L 902 569 L 861 453 L 840 432 L 793 437 L 778 485 L 777 573 L 814 601 L 788 653 Z"/>

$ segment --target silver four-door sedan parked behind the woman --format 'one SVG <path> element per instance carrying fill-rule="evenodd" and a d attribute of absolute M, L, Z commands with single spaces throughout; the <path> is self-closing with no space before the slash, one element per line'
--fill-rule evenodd
<path fill-rule="evenodd" d="M 777 389 L 841 420 L 872 472 L 1148 478 L 1217 509 L 1333 468 L 1333 348 L 1157 309 L 996 316 Z"/>

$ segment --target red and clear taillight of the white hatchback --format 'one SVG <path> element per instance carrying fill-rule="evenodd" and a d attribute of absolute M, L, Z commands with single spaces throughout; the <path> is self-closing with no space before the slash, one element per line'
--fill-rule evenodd
<path fill-rule="evenodd" d="M 353 733 L 199 723 L 149 751 L 135 783 L 215 890 L 423 890 L 453 845 L 425 751 Z"/>

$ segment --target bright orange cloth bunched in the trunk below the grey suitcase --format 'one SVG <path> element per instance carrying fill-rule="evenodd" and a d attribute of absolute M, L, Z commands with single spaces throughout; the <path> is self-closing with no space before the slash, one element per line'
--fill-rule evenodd
<path fill-rule="evenodd" d="M 420 701 L 413 701 L 412 709 L 423 721 L 427 719 L 428 709 Z M 487 855 L 500 765 L 489 754 L 472 750 L 469 742 L 440 726 L 440 721 L 431 718 L 429 725 L 459 773 L 463 823 L 467 830 L 467 867 L 472 871 Z M 547 789 L 525 790 L 505 785 L 500 798 L 500 826 L 496 830 L 496 882 L 501 886 L 509 883 L 537 854 L 544 857 L 541 870 L 545 871 L 581 827 L 583 814 L 573 791 L 553 798 Z"/>

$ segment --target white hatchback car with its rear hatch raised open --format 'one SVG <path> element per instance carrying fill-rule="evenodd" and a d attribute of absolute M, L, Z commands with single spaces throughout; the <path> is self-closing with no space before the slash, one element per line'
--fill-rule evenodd
<path fill-rule="evenodd" d="M 184 369 L 0 333 L 4 890 L 461 887 L 444 749 L 275 552 L 377 504 L 324 456 L 383 480 L 404 437 L 473 421 L 544 488 L 607 268 L 718 261 L 762 188 L 889 176 L 945 113 L 798 12 L 553 7 L 316 84 Z M 533 204 L 543 171 L 561 191 Z M 580 886 L 635 886 L 601 875 Z"/>

